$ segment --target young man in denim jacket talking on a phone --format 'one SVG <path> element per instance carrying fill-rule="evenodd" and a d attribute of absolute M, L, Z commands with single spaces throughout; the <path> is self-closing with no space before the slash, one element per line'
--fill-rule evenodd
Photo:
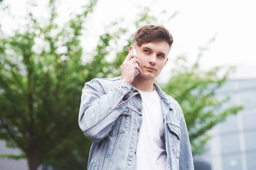
<path fill-rule="evenodd" d="M 137 55 L 127 55 L 121 77 L 85 83 L 79 127 L 93 141 L 88 170 L 194 169 L 180 105 L 154 83 L 172 43 L 163 26 L 143 26 L 129 48 Z"/>

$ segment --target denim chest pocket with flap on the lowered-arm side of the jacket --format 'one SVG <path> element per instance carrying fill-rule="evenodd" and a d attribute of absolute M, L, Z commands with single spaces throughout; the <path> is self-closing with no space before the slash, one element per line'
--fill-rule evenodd
<path fill-rule="evenodd" d="M 180 157 L 180 127 L 177 125 L 173 125 L 172 123 L 168 123 L 169 130 L 171 131 L 171 145 L 172 151 L 176 155 L 177 158 Z"/>

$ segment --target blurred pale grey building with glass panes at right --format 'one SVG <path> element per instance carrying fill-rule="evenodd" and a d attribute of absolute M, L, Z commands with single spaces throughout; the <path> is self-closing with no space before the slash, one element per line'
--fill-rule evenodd
<path fill-rule="evenodd" d="M 228 81 L 217 93 L 223 106 L 243 105 L 237 115 L 209 131 L 206 153 L 194 156 L 195 170 L 256 170 L 256 79 Z"/>

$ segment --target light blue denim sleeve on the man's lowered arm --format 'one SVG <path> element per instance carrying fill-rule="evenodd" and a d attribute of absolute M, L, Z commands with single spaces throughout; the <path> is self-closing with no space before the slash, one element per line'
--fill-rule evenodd
<path fill-rule="evenodd" d="M 184 116 L 180 120 L 180 170 L 194 170 L 191 146 Z"/>

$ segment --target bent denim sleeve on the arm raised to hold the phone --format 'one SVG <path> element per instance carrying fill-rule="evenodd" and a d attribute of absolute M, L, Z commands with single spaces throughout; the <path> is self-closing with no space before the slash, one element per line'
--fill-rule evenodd
<path fill-rule="evenodd" d="M 112 129 L 114 122 L 127 106 L 127 100 L 118 105 L 131 89 L 122 80 L 107 94 L 95 81 L 85 83 L 79 110 L 79 127 L 84 135 L 99 143 Z M 117 106 L 118 105 L 118 106 Z"/>

